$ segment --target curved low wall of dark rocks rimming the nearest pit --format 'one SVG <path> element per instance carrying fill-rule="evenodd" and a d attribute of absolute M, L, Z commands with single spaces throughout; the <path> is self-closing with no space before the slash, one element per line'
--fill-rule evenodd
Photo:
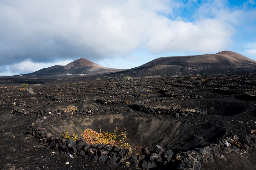
<path fill-rule="evenodd" d="M 66 115 L 57 113 L 38 118 L 29 126 L 26 133 L 35 136 L 45 146 L 59 150 L 60 153 L 71 158 L 142 169 L 172 167 L 173 169 L 199 170 L 206 161 L 214 161 L 214 158 L 220 158 L 230 152 L 240 154 L 249 152 L 256 144 L 256 134 L 243 134 L 240 137 L 235 136 L 235 140 L 226 137 L 226 139 L 219 139 L 217 144 L 211 143 L 207 147 L 186 152 L 177 150 L 174 153 L 172 150 L 164 150 L 163 147 L 155 145 L 153 150 L 142 148 L 141 153 L 135 153 L 131 147 L 125 149 L 105 144 L 92 145 L 85 139 L 74 141 L 53 136 L 43 127 L 44 123 L 65 117 Z"/>

